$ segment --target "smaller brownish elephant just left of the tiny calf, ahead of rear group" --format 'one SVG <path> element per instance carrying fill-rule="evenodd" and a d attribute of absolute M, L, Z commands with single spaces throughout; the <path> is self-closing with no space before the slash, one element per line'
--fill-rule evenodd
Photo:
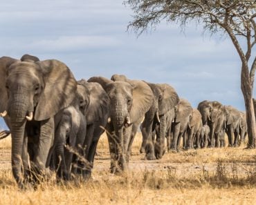
<path fill-rule="evenodd" d="M 200 135 L 201 135 L 201 129 L 203 126 L 202 122 L 202 115 L 196 108 L 193 108 L 192 110 L 192 118 L 190 119 L 190 124 L 188 126 L 188 144 L 186 149 L 191 148 L 201 148 L 200 145 Z M 194 144 L 195 140 L 195 144 Z"/>

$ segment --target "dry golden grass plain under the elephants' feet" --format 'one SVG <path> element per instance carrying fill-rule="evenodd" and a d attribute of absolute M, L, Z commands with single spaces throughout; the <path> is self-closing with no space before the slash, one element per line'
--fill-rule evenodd
<path fill-rule="evenodd" d="M 102 135 L 91 179 L 56 182 L 19 191 L 10 165 L 10 137 L 0 141 L 0 204 L 256 204 L 256 150 L 207 148 L 165 153 L 144 160 L 136 135 L 129 171 L 109 172 L 107 137 Z"/>

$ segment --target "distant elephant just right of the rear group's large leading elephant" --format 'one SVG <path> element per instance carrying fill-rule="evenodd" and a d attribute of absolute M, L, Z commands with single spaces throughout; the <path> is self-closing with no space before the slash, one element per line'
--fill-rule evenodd
<path fill-rule="evenodd" d="M 228 117 L 226 119 L 226 133 L 228 135 L 228 146 L 238 146 L 239 127 L 241 126 L 241 115 L 239 110 L 232 106 L 225 106 Z"/>

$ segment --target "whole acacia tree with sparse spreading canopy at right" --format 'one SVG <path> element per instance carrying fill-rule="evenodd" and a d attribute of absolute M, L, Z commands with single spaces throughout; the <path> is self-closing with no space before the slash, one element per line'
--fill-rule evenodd
<path fill-rule="evenodd" d="M 230 37 L 241 59 L 241 91 L 246 106 L 248 148 L 255 148 L 256 124 L 253 108 L 253 83 L 256 57 L 250 59 L 256 43 L 255 0 L 127 0 L 134 11 L 134 20 L 128 28 L 138 35 L 156 28 L 165 20 L 180 23 L 181 28 L 193 21 L 212 33 L 224 32 Z M 246 48 L 242 48 L 242 41 Z"/>

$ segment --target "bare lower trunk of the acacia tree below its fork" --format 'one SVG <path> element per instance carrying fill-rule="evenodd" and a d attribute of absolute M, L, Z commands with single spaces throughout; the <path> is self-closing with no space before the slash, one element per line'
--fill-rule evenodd
<path fill-rule="evenodd" d="M 246 121 L 248 126 L 248 148 L 255 148 L 256 121 L 253 108 L 253 87 L 250 85 L 248 64 L 244 63 L 241 67 L 241 91 L 244 95 L 246 106 Z"/>

